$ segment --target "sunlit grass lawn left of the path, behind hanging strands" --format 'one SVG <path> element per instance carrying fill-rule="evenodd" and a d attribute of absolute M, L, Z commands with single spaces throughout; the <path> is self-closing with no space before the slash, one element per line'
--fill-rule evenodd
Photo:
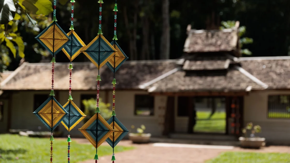
<path fill-rule="evenodd" d="M 73 141 L 73 138 L 72 138 Z M 105 142 L 104 142 L 105 143 Z M 116 146 L 115 153 L 133 149 L 133 147 Z M 100 146 L 98 155 L 112 155 L 111 146 Z M 68 143 L 66 140 L 53 141 L 53 163 L 68 162 Z M 93 159 L 96 148 L 91 144 L 77 144 L 70 142 L 70 162 Z M 19 135 L 0 135 L 1 163 L 39 163 L 50 162 L 49 138 L 31 138 Z M 117 158 L 117 157 L 116 157 Z"/>

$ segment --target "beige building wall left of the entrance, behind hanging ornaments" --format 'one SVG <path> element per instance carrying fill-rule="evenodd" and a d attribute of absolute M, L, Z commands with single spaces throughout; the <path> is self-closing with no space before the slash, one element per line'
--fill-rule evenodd
<path fill-rule="evenodd" d="M 37 117 L 32 114 L 33 112 L 33 97 L 34 94 L 47 94 L 49 91 L 20 91 L 14 93 L 12 96 L 12 129 L 29 129 L 32 131 L 48 131 L 48 129 L 42 124 Z M 81 94 L 96 94 L 96 91 L 73 91 L 73 102 L 77 106 L 81 106 Z M 141 124 L 146 126 L 146 133 L 151 133 L 153 136 L 161 136 L 163 131 L 164 114 L 166 96 L 155 96 L 154 100 L 154 116 L 142 117 L 134 115 L 134 96 L 135 94 L 148 94 L 146 91 L 118 91 L 116 90 L 115 110 L 117 118 L 124 124 L 128 130 L 131 129 L 131 125 L 139 127 Z M 56 94 L 57 95 L 57 94 Z M 64 105 L 68 101 L 68 91 L 59 91 L 58 102 Z M 100 91 L 100 98 L 105 100 L 105 91 Z M 108 100 L 112 106 L 113 94 L 109 91 Z M 111 109 L 111 107 L 110 107 Z M 7 112 L 6 112 L 7 113 Z M 0 122 L 1 124 L 1 122 Z M 77 130 L 84 123 L 80 122 L 72 131 L 70 135 L 75 137 L 82 137 L 82 134 Z M 39 130 L 39 127 L 41 128 Z M 6 129 L 6 128 L 5 128 Z M 0 131 L 2 127 L 0 128 Z M 67 135 L 67 130 L 59 125 L 59 130 L 64 131 L 64 136 Z M 133 129 L 136 132 L 136 128 Z"/>

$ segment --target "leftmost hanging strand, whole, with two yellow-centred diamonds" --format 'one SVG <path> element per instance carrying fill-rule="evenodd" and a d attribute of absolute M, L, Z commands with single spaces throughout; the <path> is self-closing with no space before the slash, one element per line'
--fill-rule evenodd
<path fill-rule="evenodd" d="M 55 55 L 70 41 L 70 38 L 56 23 L 56 0 L 53 1 L 52 23 L 37 37 L 37 41 L 52 54 L 52 80 L 50 97 L 33 112 L 37 118 L 51 131 L 50 134 L 50 163 L 52 163 L 52 146 L 54 141 L 52 131 L 60 124 L 68 112 L 53 97 L 54 94 L 54 64 Z"/>

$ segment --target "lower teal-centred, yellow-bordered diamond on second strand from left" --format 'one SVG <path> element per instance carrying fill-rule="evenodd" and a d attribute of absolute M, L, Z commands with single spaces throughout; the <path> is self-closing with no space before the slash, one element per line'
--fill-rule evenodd
<path fill-rule="evenodd" d="M 61 124 L 70 131 L 72 130 L 81 120 L 83 120 L 86 115 L 77 107 L 77 105 L 69 100 L 63 108 L 69 113 L 65 115 L 64 119 L 61 121 Z"/>

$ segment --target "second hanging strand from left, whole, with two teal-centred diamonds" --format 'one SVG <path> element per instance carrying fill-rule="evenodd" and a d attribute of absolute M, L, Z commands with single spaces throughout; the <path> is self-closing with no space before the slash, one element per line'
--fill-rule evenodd
<path fill-rule="evenodd" d="M 68 69 L 70 69 L 70 78 L 69 78 L 69 93 L 68 93 L 68 102 L 63 106 L 64 109 L 68 112 L 61 121 L 61 124 L 68 130 L 68 163 L 70 163 L 70 130 L 72 130 L 81 120 L 83 120 L 86 115 L 77 107 L 77 105 L 73 102 L 73 98 L 71 95 L 71 80 L 72 80 L 72 61 L 79 55 L 81 49 L 86 46 L 84 42 L 79 38 L 79 36 L 75 33 L 73 27 L 73 13 L 74 13 L 74 3 L 75 0 L 70 1 L 72 3 L 72 14 L 71 14 L 71 26 L 70 32 L 68 32 L 68 37 L 70 37 L 69 43 L 62 49 L 62 51 L 66 54 L 68 59 L 70 60 L 70 65 Z"/>

